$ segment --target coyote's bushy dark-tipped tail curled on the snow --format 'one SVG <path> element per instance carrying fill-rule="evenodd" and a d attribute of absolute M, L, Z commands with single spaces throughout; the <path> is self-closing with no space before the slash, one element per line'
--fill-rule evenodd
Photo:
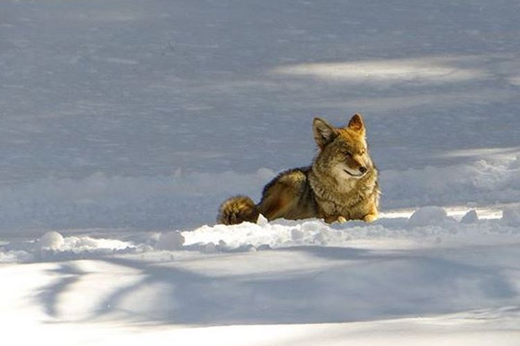
<path fill-rule="evenodd" d="M 260 215 L 257 206 L 247 196 L 235 196 L 225 200 L 218 209 L 217 222 L 236 225 L 243 221 L 255 224 Z"/>

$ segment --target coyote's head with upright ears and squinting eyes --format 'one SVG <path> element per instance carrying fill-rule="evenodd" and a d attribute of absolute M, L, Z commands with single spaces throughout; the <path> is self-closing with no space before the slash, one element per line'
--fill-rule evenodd
<path fill-rule="evenodd" d="M 317 174 L 345 181 L 360 179 L 373 170 L 360 114 L 354 114 L 346 127 L 333 127 L 315 118 L 313 134 L 319 149 L 313 165 Z"/>

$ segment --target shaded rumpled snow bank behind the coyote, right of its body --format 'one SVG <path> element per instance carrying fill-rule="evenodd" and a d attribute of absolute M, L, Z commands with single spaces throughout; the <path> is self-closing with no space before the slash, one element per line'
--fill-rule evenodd
<path fill-rule="evenodd" d="M 514 203 L 520 191 L 520 160 L 487 158 L 444 167 L 381 172 L 387 208 L 483 202 Z"/>

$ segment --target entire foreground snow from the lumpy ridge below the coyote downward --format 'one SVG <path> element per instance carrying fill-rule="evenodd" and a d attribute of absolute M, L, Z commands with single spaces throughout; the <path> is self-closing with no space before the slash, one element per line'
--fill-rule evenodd
<path fill-rule="evenodd" d="M 117 233 L 123 240 L 52 231 L 0 246 L 0 274 L 18 273 L 1 289 L 9 307 L 0 319 L 26 326 L 8 320 L 16 308 L 35 336 L 70 327 L 81 343 L 101 345 L 115 340 L 109 329 L 118 340 L 137 333 L 132 345 L 514 345 L 520 231 L 508 215 L 425 207 L 374 224 L 260 219 Z"/>

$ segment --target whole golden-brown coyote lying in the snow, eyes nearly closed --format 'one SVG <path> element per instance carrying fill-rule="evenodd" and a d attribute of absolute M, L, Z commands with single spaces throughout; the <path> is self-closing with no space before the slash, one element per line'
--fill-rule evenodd
<path fill-rule="evenodd" d="M 220 206 L 218 222 L 256 222 L 318 217 L 328 223 L 374 221 L 379 204 L 377 170 L 370 159 L 363 118 L 354 114 L 346 127 L 313 121 L 318 154 L 309 167 L 282 172 L 263 188 L 260 203 L 236 196 Z"/>

